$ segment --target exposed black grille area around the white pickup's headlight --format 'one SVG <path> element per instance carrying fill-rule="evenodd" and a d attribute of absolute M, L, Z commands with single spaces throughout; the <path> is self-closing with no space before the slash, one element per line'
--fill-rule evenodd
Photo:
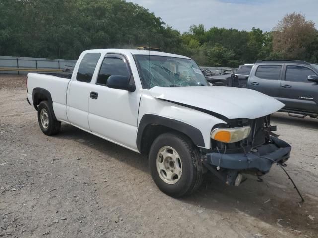
<path fill-rule="evenodd" d="M 269 143 L 268 126 L 270 125 L 270 115 L 256 118 L 256 119 L 230 119 L 228 124 L 216 125 L 213 129 L 218 127 L 242 127 L 249 125 L 251 132 L 248 138 L 235 142 L 223 143 L 211 139 L 211 148 L 214 152 L 219 153 L 248 153 L 252 148 Z"/>

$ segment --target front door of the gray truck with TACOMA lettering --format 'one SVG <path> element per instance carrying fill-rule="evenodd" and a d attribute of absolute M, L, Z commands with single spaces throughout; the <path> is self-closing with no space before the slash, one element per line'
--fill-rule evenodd
<path fill-rule="evenodd" d="M 318 84 L 307 80 L 318 75 L 308 65 L 284 64 L 279 100 L 285 108 L 304 112 L 318 112 Z"/>

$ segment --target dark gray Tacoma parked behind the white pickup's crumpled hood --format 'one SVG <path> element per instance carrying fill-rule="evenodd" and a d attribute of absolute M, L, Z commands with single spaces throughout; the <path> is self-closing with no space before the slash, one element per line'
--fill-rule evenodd
<path fill-rule="evenodd" d="M 317 64 L 298 60 L 258 60 L 251 69 L 246 87 L 284 103 L 283 112 L 318 118 Z"/>

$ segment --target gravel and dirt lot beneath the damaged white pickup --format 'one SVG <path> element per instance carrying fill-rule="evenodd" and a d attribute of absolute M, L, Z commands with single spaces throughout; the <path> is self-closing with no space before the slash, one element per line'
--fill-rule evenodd
<path fill-rule="evenodd" d="M 25 77 L 0 76 L 0 237 L 318 237 L 318 119 L 273 116 L 305 203 L 278 166 L 173 199 L 137 153 L 66 124 L 45 136 L 25 98 Z"/>

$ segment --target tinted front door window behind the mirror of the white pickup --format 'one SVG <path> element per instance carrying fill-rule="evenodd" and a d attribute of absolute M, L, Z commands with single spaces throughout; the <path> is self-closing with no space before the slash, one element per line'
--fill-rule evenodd
<path fill-rule="evenodd" d="M 107 85 L 107 79 L 111 75 L 130 77 L 130 71 L 123 59 L 106 56 L 100 67 L 96 84 Z"/>

